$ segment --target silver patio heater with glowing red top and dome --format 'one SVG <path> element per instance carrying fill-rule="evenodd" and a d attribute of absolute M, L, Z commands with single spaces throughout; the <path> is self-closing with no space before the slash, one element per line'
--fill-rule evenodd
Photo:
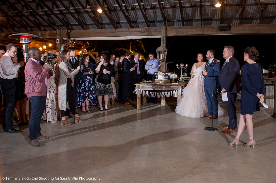
<path fill-rule="evenodd" d="M 32 43 L 32 39 L 43 39 L 39 36 L 28 34 L 28 33 L 11 34 L 9 35 L 9 38 L 20 39 L 20 43 L 23 45 L 25 63 L 27 63 L 27 52 L 29 49 L 29 44 Z M 30 100 L 28 97 L 26 99 L 26 116 L 30 117 Z"/>

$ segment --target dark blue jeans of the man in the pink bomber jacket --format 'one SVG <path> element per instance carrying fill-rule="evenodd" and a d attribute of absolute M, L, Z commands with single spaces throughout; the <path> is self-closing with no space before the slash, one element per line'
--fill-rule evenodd
<path fill-rule="evenodd" d="M 31 116 L 29 121 L 29 139 L 37 139 L 41 135 L 40 131 L 40 122 L 41 116 L 43 115 L 45 104 L 46 104 L 46 95 L 45 96 L 36 96 L 29 97 L 31 103 Z"/>

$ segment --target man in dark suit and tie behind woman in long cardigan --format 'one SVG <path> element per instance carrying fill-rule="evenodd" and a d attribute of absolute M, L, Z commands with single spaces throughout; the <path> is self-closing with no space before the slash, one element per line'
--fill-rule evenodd
<path fill-rule="evenodd" d="M 67 50 L 70 52 L 69 63 L 71 64 L 72 69 L 76 69 L 80 64 L 80 61 L 75 58 L 76 50 L 73 47 L 69 47 Z M 76 103 L 76 100 L 77 100 L 76 97 L 77 97 L 77 92 L 78 92 L 77 91 L 78 90 L 78 74 L 74 76 L 74 83 L 71 83 L 71 84 L 73 85 L 72 92 L 73 92 L 74 101 Z"/>

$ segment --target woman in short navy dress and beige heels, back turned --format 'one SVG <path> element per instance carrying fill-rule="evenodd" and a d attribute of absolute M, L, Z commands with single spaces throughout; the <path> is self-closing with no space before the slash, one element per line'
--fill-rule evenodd
<path fill-rule="evenodd" d="M 241 67 L 241 114 L 239 115 L 239 127 L 237 136 L 229 143 L 230 146 L 239 144 L 239 137 L 244 130 L 245 123 L 248 130 L 249 141 L 244 143 L 246 147 L 256 144 L 253 138 L 252 115 L 260 111 L 260 104 L 264 103 L 264 73 L 260 64 L 255 62 L 259 53 L 253 46 L 247 47 L 244 52 L 244 61 L 247 63 Z"/>

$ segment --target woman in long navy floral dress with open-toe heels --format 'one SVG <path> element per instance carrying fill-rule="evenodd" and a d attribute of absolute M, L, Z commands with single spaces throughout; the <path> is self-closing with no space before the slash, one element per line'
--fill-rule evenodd
<path fill-rule="evenodd" d="M 92 62 L 89 62 L 89 55 L 83 54 L 84 60 L 81 61 L 81 70 L 79 77 L 79 88 L 78 88 L 78 107 L 82 107 L 84 113 L 90 112 L 88 107 L 97 105 L 93 74 L 94 66 Z"/>

